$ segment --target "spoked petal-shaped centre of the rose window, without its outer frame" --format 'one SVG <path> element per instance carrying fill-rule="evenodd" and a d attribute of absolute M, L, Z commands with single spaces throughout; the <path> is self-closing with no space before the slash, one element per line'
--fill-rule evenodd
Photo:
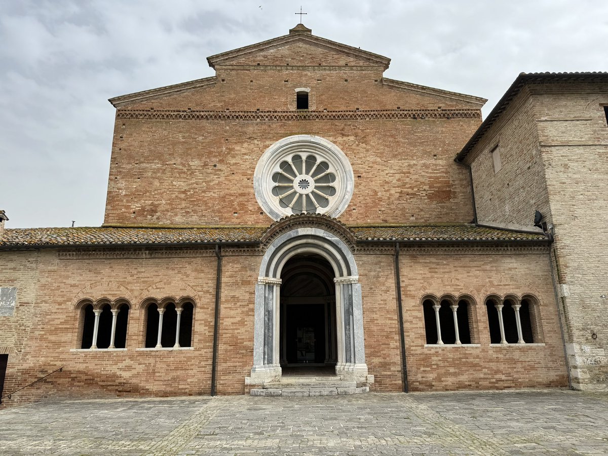
<path fill-rule="evenodd" d="M 305 158 L 294 154 L 278 164 L 272 173 L 272 196 L 278 198 L 283 209 L 291 209 L 294 214 L 317 212 L 330 204 L 336 196 L 336 173 L 330 164 L 308 154 Z"/>

